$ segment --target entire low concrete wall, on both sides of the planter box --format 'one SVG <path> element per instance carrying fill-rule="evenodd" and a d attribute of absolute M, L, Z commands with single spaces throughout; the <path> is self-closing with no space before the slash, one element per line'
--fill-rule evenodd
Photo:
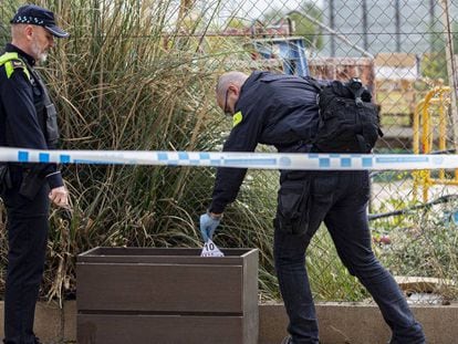
<path fill-rule="evenodd" d="M 458 304 L 414 305 L 412 309 L 424 325 L 428 344 L 458 343 Z M 389 340 L 389 330 L 376 305 L 318 303 L 316 311 L 323 344 L 386 344 Z M 259 315 L 259 344 L 280 344 L 288 325 L 283 305 L 260 304 Z M 3 302 L 0 302 L 0 323 L 3 324 Z M 62 310 L 54 303 L 39 303 L 35 332 L 45 344 L 75 343 L 76 303 L 66 302 Z M 2 326 L 0 337 L 3 337 Z"/>

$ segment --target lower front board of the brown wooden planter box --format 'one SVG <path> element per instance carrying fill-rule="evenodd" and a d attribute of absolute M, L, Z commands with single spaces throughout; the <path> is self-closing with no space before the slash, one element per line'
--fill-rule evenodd
<path fill-rule="evenodd" d="M 243 340 L 242 322 L 241 316 L 79 314 L 77 343 L 257 344 L 257 333 L 250 342 Z"/>

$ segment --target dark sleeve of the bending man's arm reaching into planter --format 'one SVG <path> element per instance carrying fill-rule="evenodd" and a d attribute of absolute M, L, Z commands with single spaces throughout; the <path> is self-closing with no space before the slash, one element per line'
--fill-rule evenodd
<path fill-rule="evenodd" d="M 235 117 L 241 116 L 241 122 L 235 122 L 222 147 L 223 152 L 254 152 L 262 132 L 263 118 L 269 111 L 269 104 L 263 102 L 266 92 L 267 90 L 257 92 L 254 88 L 239 100 Z M 247 168 L 218 168 L 209 211 L 223 212 L 226 206 L 237 198 L 246 174 Z"/>

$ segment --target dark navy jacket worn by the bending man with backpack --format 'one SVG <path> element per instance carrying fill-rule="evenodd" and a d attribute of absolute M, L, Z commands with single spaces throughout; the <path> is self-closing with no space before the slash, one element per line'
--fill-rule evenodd
<path fill-rule="evenodd" d="M 298 152 L 316 132 L 316 93 L 306 77 L 253 72 L 241 87 L 222 150 L 253 152 L 260 143 Z M 246 168 L 218 168 L 209 211 L 220 213 L 236 199 L 246 174 Z"/>

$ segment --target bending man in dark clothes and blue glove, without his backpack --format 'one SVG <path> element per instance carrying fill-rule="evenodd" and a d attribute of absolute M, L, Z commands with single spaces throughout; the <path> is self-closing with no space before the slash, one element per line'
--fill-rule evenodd
<path fill-rule="evenodd" d="M 268 72 L 230 72 L 221 75 L 216 93 L 219 107 L 233 116 L 222 150 L 253 152 L 261 143 L 284 153 L 311 152 L 319 113 L 316 87 L 310 80 Z M 204 240 L 211 238 L 226 206 L 236 199 L 246 173 L 247 169 L 218 168 L 211 205 L 200 216 Z M 342 262 L 378 304 L 393 332 L 391 343 L 425 343 L 421 325 L 372 251 L 368 197 L 367 171 L 281 171 L 273 248 L 290 320 L 290 336 L 283 340 L 284 344 L 319 343 L 305 251 L 323 221 Z"/>

